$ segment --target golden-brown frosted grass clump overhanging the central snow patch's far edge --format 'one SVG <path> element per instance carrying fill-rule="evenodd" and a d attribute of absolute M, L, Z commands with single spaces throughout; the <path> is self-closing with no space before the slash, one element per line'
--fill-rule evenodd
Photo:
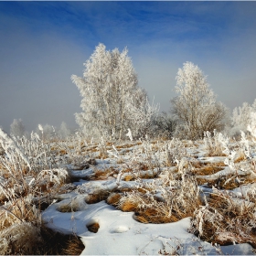
<path fill-rule="evenodd" d="M 166 172 L 165 176 L 160 178 L 162 181 L 159 179 L 162 197 L 155 195 L 158 190 L 155 183 L 141 183 L 122 197 L 119 196 L 118 202 L 115 201 L 114 204 L 123 211 L 133 211 L 134 219 L 144 223 L 174 222 L 192 216 L 194 210 L 201 205 L 195 179 L 183 176 L 179 177 L 180 180 L 169 181 L 169 178 L 174 177 Z"/>

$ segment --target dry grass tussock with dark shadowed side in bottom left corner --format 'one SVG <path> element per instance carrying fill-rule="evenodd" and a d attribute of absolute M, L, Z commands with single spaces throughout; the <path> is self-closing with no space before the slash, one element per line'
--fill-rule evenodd
<path fill-rule="evenodd" d="M 29 222 L 12 225 L 0 232 L 0 253 L 3 255 L 80 255 L 81 240 Z"/>

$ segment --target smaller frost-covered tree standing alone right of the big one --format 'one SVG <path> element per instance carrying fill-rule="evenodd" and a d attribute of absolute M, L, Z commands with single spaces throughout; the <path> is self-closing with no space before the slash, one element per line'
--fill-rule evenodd
<path fill-rule="evenodd" d="M 216 101 L 207 77 L 192 62 L 186 62 L 183 69 L 178 69 L 176 93 L 179 95 L 171 102 L 179 122 L 177 131 L 181 136 L 197 140 L 206 131 L 213 132 L 224 127 L 228 109 Z"/>

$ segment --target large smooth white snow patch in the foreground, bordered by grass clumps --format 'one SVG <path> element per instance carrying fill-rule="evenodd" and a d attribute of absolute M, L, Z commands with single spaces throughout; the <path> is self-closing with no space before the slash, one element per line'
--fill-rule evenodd
<path fill-rule="evenodd" d="M 111 185 L 106 181 L 84 182 L 90 184 L 90 192 Z M 253 254 L 249 244 L 212 246 L 208 242 L 197 239 L 189 233 L 190 219 L 182 219 L 175 223 L 144 224 L 133 219 L 133 212 L 122 212 L 105 201 L 96 204 L 85 202 L 86 193 L 80 195 L 72 192 L 62 195 L 58 203 L 49 206 L 42 218 L 50 229 L 62 233 L 76 233 L 85 245 L 81 255 L 158 255 L 164 253 L 218 255 Z M 61 206 L 78 207 L 77 211 L 60 212 Z M 88 230 L 88 226 L 98 223 L 97 233 Z"/>

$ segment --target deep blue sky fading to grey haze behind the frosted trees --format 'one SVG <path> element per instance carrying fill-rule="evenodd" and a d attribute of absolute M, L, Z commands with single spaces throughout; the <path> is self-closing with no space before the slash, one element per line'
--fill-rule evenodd
<path fill-rule="evenodd" d="M 101 42 L 129 49 L 139 86 L 168 111 L 192 61 L 232 110 L 256 98 L 256 2 L 0 2 L 0 125 L 75 126 L 71 83 Z"/>

